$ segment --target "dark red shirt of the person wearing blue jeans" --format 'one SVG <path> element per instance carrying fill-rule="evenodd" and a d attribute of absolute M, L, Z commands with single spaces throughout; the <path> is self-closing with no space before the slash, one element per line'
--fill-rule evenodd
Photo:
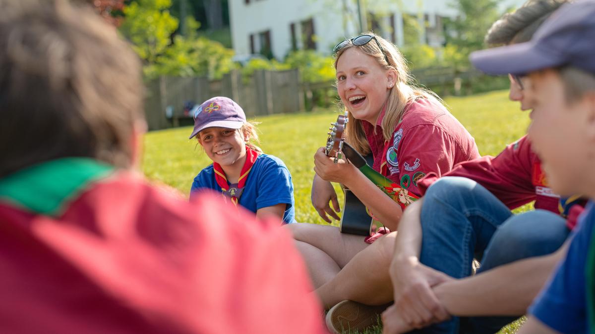
<path fill-rule="evenodd" d="M 535 201 L 536 209 L 560 213 L 560 196 L 547 186 L 541 162 L 531 150 L 531 142 L 527 136 L 507 146 L 496 157 L 484 156 L 461 163 L 442 176 L 472 179 L 494 194 L 509 209 Z M 422 179 L 419 185 L 423 193 L 439 177 L 428 174 Z M 568 214 L 567 225 L 571 229 L 575 226 L 580 207 L 572 207 Z"/>

